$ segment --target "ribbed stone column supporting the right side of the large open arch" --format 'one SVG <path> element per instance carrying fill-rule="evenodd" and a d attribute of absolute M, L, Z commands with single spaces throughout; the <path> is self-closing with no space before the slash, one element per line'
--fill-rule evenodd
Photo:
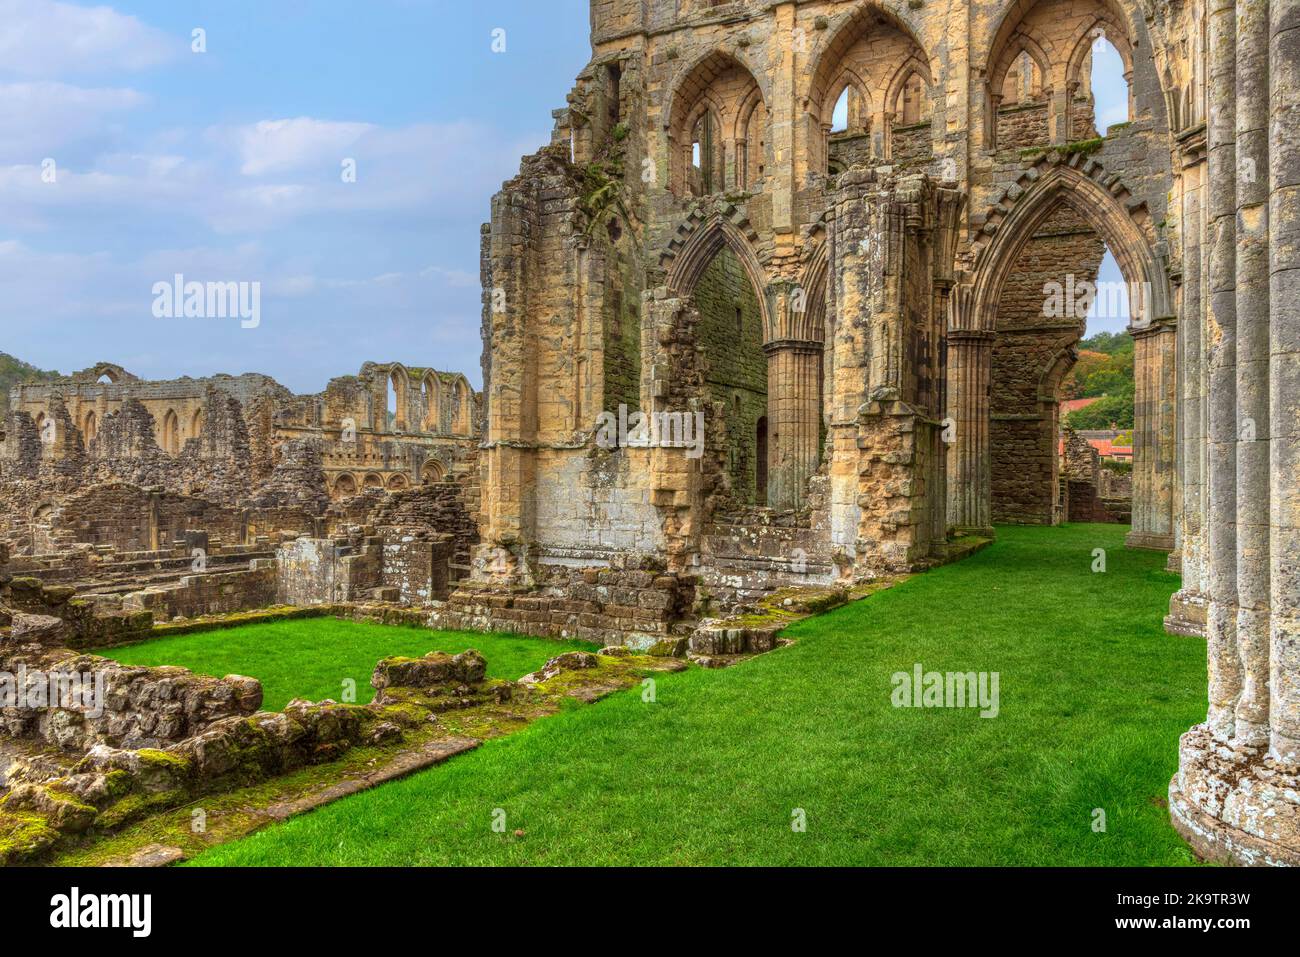
<path fill-rule="evenodd" d="M 1124 544 L 1174 547 L 1175 345 L 1176 324 L 1157 320 L 1130 326 L 1134 337 L 1134 514 Z"/>

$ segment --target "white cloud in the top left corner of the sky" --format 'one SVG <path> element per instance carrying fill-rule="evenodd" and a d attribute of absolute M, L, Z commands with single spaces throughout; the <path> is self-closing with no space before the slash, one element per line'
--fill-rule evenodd
<path fill-rule="evenodd" d="M 0 73 L 66 77 L 100 70 L 143 70 L 188 48 L 110 7 L 55 0 L 0 0 Z"/>

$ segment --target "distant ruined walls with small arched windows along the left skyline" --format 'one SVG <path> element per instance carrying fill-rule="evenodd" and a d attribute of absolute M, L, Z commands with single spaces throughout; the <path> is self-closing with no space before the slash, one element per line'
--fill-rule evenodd
<path fill-rule="evenodd" d="M 430 482 L 456 482 L 477 511 L 478 399 L 463 376 L 419 372 L 429 387 L 399 398 L 415 403 L 412 419 L 424 403 L 422 419 L 391 426 L 384 391 L 406 376 L 398 365 L 368 363 L 316 397 L 259 374 L 146 382 L 103 363 L 17 386 L 0 443 L 0 537 L 16 554 L 160 549 L 186 529 L 242 544 L 309 533 L 303 512 L 363 489 Z"/>

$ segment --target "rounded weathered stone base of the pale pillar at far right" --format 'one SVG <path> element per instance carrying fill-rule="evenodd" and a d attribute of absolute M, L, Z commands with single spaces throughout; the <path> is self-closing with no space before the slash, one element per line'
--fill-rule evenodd
<path fill-rule="evenodd" d="M 1204 861 L 1300 866 L 1300 768 L 1218 744 L 1204 724 L 1179 741 L 1169 815 Z"/>

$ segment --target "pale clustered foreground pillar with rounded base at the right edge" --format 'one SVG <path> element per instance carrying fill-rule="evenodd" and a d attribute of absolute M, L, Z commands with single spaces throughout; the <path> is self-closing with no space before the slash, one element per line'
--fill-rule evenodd
<path fill-rule="evenodd" d="M 1209 20 L 1210 693 L 1170 813 L 1199 854 L 1239 863 L 1300 865 L 1296 22 L 1296 0 Z"/>

